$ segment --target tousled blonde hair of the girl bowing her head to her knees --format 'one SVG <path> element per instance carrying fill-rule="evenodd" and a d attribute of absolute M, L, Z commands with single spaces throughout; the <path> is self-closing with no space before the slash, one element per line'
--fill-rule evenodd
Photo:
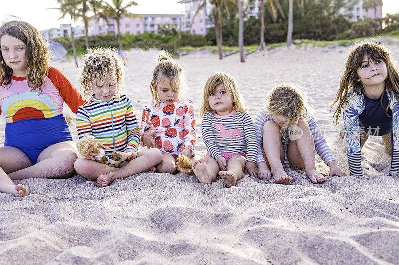
<path fill-rule="evenodd" d="M 271 115 L 287 117 L 287 122 L 281 127 L 282 132 L 291 125 L 297 125 L 300 119 L 307 120 L 312 111 L 305 93 L 294 84 L 273 88 L 266 97 L 265 108 Z"/>

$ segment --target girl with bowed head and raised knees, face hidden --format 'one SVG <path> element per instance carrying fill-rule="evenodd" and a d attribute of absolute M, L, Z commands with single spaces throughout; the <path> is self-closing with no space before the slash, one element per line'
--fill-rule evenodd
<path fill-rule="evenodd" d="M 325 181 L 326 177 L 316 171 L 315 148 L 330 167 L 330 176 L 346 176 L 309 110 L 305 97 L 294 86 L 281 85 L 269 93 L 265 107 L 255 117 L 259 179 L 269 180 L 273 175 L 276 183 L 289 182 L 294 179 L 285 170 L 305 168 L 313 183 Z"/>

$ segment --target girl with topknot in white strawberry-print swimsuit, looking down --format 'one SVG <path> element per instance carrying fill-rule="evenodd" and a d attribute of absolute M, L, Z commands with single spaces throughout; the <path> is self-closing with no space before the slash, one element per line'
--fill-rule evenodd
<path fill-rule="evenodd" d="M 154 105 L 144 107 L 140 127 L 141 145 L 162 151 L 162 161 L 152 168 L 153 172 L 174 174 L 179 154 L 195 155 L 194 106 L 191 101 L 179 99 L 183 80 L 182 66 L 178 62 L 165 52 L 158 56 L 150 85 Z"/>

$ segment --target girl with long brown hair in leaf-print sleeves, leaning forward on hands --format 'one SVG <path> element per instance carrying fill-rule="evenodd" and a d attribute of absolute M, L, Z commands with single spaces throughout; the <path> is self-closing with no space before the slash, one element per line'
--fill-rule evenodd
<path fill-rule="evenodd" d="M 349 54 L 334 121 L 342 112 L 351 176 L 363 175 L 361 148 L 370 134 L 382 136 L 392 154 L 388 175 L 399 174 L 399 71 L 389 51 L 377 42 L 363 42 Z"/>

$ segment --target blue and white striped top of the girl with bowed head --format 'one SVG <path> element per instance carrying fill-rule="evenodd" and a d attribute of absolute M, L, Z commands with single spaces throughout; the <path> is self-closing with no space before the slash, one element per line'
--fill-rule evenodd
<path fill-rule="evenodd" d="M 255 116 L 255 130 L 256 130 L 256 138 L 258 144 L 258 156 L 257 156 L 258 158 L 256 163 L 266 161 L 262 151 L 262 143 L 263 143 L 262 139 L 263 139 L 263 126 L 268 121 L 273 121 L 273 117 L 271 114 L 267 113 L 266 108 L 263 107 L 258 111 L 258 113 Z M 319 128 L 317 127 L 317 122 L 315 118 L 310 116 L 308 123 L 310 131 L 315 140 L 315 148 L 317 154 L 321 157 L 321 159 L 323 159 L 326 165 L 330 161 L 337 161 L 337 159 L 335 159 L 333 153 L 331 152 L 330 147 L 328 147 L 328 144 L 324 139 L 323 134 L 320 132 Z M 281 133 L 281 141 L 285 145 L 288 145 L 289 142 L 289 138 L 287 137 L 287 135 L 288 133 Z M 283 166 L 285 170 L 291 169 L 287 156 L 285 156 Z"/>

